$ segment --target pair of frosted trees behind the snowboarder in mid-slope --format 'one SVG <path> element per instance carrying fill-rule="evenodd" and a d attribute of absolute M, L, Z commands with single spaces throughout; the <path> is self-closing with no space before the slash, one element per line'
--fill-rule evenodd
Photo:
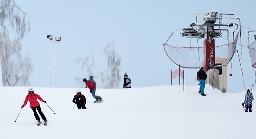
<path fill-rule="evenodd" d="M 82 82 L 83 78 L 89 78 L 90 75 L 94 76 L 94 80 L 98 76 L 101 76 L 101 88 L 120 88 L 120 62 L 121 57 L 115 52 L 114 42 L 108 43 L 103 50 L 108 63 L 108 70 L 97 72 L 95 70 L 94 56 L 92 52 L 87 51 L 84 57 L 78 56 L 76 63 L 81 64 L 82 74 L 79 77 L 75 77 L 76 82 L 80 86 L 84 86 Z M 100 83 L 99 83 L 100 84 Z"/>

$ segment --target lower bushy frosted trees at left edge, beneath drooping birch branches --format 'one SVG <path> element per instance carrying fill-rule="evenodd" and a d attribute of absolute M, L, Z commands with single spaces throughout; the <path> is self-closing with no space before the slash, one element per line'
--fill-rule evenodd
<path fill-rule="evenodd" d="M 1 35 L 0 35 L 1 37 Z M 22 57 L 19 39 L 0 41 L 4 86 L 29 86 L 33 65 L 29 56 Z"/>

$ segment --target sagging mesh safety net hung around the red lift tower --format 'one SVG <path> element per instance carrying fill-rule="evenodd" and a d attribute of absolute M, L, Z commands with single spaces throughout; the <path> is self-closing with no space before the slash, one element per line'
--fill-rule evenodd
<path fill-rule="evenodd" d="M 227 58 L 228 63 L 232 59 L 238 40 L 240 31 L 237 33 L 236 38 L 229 44 L 215 46 L 215 57 Z M 171 34 L 171 36 L 173 33 Z M 200 68 L 204 60 L 203 47 L 176 47 L 170 45 L 170 38 L 163 44 L 164 51 L 167 56 L 178 66 L 183 68 Z M 254 51 L 255 52 L 255 51 Z M 256 55 L 254 55 L 256 61 Z M 227 63 L 227 64 L 228 64 Z M 226 64 L 226 65 L 227 65 Z M 226 66 L 218 65 L 218 66 Z"/>

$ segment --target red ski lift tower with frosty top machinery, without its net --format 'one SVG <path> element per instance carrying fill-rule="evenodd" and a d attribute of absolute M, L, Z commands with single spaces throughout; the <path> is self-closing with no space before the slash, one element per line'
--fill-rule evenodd
<path fill-rule="evenodd" d="M 232 13 L 220 13 L 212 11 L 211 13 L 201 14 L 201 23 L 192 23 L 190 27 L 194 28 L 198 26 L 197 32 L 200 33 L 200 37 L 204 38 L 203 52 L 204 60 L 202 66 L 208 75 L 208 83 L 214 88 L 226 92 L 227 90 L 227 67 L 221 67 L 219 70 L 217 65 L 226 65 L 227 58 L 215 57 L 215 39 L 222 36 L 222 27 L 231 27 L 233 24 L 223 24 L 222 15 L 234 15 Z M 216 21 L 219 21 L 216 23 Z M 214 69 L 214 70 L 212 70 Z"/>

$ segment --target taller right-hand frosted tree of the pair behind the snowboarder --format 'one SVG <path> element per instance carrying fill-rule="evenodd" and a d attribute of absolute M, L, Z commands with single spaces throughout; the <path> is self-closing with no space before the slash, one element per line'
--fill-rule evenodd
<path fill-rule="evenodd" d="M 106 45 L 104 54 L 108 60 L 108 70 L 101 72 L 102 88 L 120 88 L 121 57 L 115 52 L 114 42 Z"/>

